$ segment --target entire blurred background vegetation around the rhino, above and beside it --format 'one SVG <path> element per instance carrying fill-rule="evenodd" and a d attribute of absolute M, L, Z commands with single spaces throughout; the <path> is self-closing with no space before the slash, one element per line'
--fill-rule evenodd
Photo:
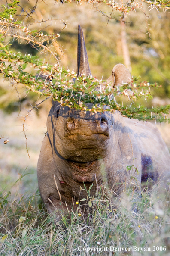
<path fill-rule="evenodd" d="M 6 0 L 1 0 L 1 4 L 6 4 Z M 107 79 L 111 75 L 112 68 L 118 63 L 123 63 L 131 70 L 132 75 L 140 75 L 142 81 L 157 82 L 162 85 L 161 88 L 152 91 L 155 98 L 146 103 L 147 106 L 170 104 L 169 11 L 164 12 L 164 9 L 158 11 L 155 8 L 152 9 L 152 6 L 148 8 L 148 4 L 143 3 L 146 15 L 141 9 L 136 8 L 136 12 L 133 11 L 127 15 L 124 23 L 118 21 L 119 13 L 115 12 L 115 19 L 108 19 L 86 1 L 61 3 L 54 0 L 21 0 L 19 6 L 15 20 L 23 21 L 23 25 L 31 30 L 42 31 L 44 34 L 60 34 L 58 38 L 60 47 L 53 44 L 52 49 L 57 50 L 61 66 L 68 67 L 70 71 L 74 69 L 76 72 L 77 26 L 80 24 L 83 28 L 93 76 L 98 79 L 102 77 Z M 103 13 L 106 12 L 107 7 L 101 6 Z M 146 16 L 149 16 L 148 25 Z M 50 64 L 55 64 L 54 59 L 48 54 L 40 54 L 38 46 L 33 48 L 31 44 L 26 44 L 22 40 L 13 40 L 8 36 L 6 43 L 11 44 L 13 52 L 30 53 L 39 56 L 39 59 L 45 59 Z M 126 47 L 125 52 L 124 47 Z M 28 66 L 27 71 L 29 69 Z M 31 189 L 35 188 L 36 163 L 44 132 L 46 132 L 46 118 L 51 101 L 47 100 L 27 120 L 27 125 L 29 125 L 27 144 L 30 159 L 27 156 L 24 135 L 19 134 L 22 126 L 18 125 L 22 124 L 24 116 L 27 115 L 26 109 L 38 100 L 36 93 L 27 94 L 23 87 L 18 87 L 17 92 L 9 87 L 3 78 L 0 78 L 0 120 L 2 120 L 0 134 L 2 134 L 1 137 L 4 136 L 4 139 L 9 137 L 9 143 L 6 145 L 3 144 L 3 138 L 0 140 L 0 185 L 3 187 L 6 179 L 11 180 L 10 185 L 13 184 L 13 176 L 9 178 L 11 172 L 18 177 L 19 173 L 23 173 L 27 168 L 26 172 L 32 173 L 29 178 L 32 181 L 30 182 Z M 20 107 L 21 112 L 18 116 Z M 163 124 L 161 129 L 163 138 L 170 148 L 169 126 Z M 22 190 L 25 191 L 24 183 Z"/>

